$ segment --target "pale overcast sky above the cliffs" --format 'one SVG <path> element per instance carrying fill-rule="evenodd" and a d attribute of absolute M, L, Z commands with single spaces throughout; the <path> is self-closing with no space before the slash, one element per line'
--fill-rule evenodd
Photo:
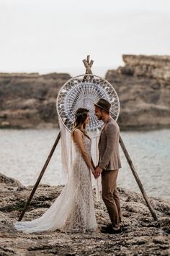
<path fill-rule="evenodd" d="M 169 0 L 0 0 L 0 72 L 84 74 L 122 54 L 169 55 Z"/>

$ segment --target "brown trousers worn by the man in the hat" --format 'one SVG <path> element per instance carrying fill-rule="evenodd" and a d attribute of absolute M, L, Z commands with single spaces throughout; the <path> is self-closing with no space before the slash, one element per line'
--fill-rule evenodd
<path fill-rule="evenodd" d="M 117 193 L 118 171 L 102 171 L 102 199 L 107 207 L 112 226 L 115 227 L 122 220 L 120 199 Z"/>

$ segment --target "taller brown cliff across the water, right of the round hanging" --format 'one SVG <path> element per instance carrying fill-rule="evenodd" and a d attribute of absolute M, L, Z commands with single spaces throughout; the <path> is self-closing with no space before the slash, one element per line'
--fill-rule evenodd
<path fill-rule="evenodd" d="M 120 98 L 122 129 L 170 127 L 170 56 L 123 55 L 106 79 Z"/>

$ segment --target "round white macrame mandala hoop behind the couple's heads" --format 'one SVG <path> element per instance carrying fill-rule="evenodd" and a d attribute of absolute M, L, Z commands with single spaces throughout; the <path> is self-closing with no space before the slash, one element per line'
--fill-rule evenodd
<path fill-rule="evenodd" d="M 83 74 L 68 80 L 57 97 L 58 117 L 66 129 L 71 131 L 73 128 L 77 108 L 88 108 L 90 123 L 87 130 L 93 136 L 99 135 L 103 123 L 94 115 L 94 103 L 99 98 L 104 98 L 111 103 L 110 114 L 116 121 L 120 112 L 120 102 L 115 88 L 107 80 L 94 74 Z"/>

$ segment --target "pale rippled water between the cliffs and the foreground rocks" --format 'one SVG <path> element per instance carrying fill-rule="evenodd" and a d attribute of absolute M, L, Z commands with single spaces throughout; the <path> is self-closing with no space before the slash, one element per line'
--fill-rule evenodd
<path fill-rule="evenodd" d="M 0 129 L 0 172 L 24 185 L 33 185 L 58 135 L 58 129 Z M 121 132 L 138 176 L 149 196 L 170 199 L 170 129 Z M 118 186 L 139 192 L 120 149 Z M 64 184 L 60 142 L 41 183 Z"/>

